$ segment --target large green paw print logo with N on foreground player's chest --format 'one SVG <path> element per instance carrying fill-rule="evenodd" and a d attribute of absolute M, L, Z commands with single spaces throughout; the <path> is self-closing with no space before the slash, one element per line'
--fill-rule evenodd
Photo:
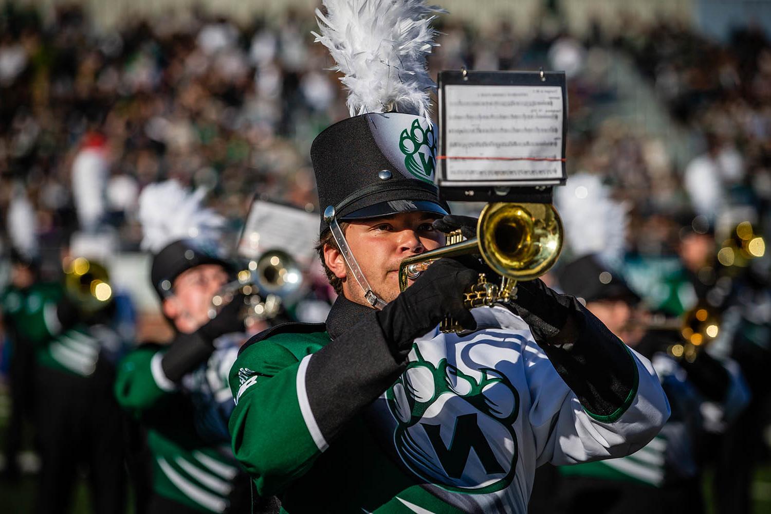
<path fill-rule="evenodd" d="M 483 368 L 475 378 L 446 359 L 435 366 L 413 348 L 417 360 L 386 393 L 402 462 L 450 491 L 506 488 L 517 464 L 517 390 L 500 371 Z"/>

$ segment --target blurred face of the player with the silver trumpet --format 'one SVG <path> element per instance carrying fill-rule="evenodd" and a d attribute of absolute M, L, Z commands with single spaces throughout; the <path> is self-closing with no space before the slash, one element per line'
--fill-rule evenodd
<path fill-rule="evenodd" d="M 174 280 L 167 314 L 184 333 L 197 331 L 209 321 L 211 299 L 227 283 L 227 271 L 219 264 L 201 264 L 184 270 Z"/>

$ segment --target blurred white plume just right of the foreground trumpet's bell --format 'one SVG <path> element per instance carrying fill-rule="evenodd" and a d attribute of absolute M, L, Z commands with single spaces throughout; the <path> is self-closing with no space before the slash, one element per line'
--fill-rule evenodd
<path fill-rule="evenodd" d="M 626 246 L 628 206 L 611 199 L 599 176 L 571 176 L 564 187 L 557 187 L 554 200 L 567 247 L 575 258 L 595 254 L 607 265 L 620 263 Z"/>

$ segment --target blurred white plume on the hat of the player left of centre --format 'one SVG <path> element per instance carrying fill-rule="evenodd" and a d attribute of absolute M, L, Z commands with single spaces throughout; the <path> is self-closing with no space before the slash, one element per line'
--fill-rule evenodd
<path fill-rule="evenodd" d="M 146 186 L 139 200 L 141 248 L 156 254 L 176 240 L 219 240 L 225 219 L 201 206 L 206 193 L 203 187 L 190 193 L 177 180 Z"/>

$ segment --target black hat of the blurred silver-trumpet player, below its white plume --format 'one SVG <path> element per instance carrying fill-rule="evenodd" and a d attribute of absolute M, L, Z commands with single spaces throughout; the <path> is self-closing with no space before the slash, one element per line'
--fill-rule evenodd
<path fill-rule="evenodd" d="M 214 242 L 184 239 L 163 247 L 153 256 L 150 268 L 150 280 L 153 281 L 158 297 L 163 301 L 164 297 L 171 294 L 175 278 L 183 271 L 201 264 L 220 264 L 228 272 L 236 270 L 235 263 L 228 260 Z"/>

